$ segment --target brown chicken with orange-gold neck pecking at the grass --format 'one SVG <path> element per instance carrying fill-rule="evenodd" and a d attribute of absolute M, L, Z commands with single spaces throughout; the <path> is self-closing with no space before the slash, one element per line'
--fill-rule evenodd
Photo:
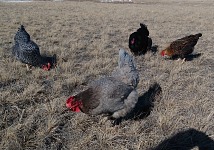
<path fill-rule="evenodd" d="M 198 39 L 201 36 L 202 34 L 198 33 L 178 39 L 172 42 L 165 50 L 162 50 L 161 55 L 167 55 L 170 57 L 177 56 L 179 58 L 182 58 L 184 61 L 185 57 L 193 52 L 194 46 L 197 44 Z"/>

